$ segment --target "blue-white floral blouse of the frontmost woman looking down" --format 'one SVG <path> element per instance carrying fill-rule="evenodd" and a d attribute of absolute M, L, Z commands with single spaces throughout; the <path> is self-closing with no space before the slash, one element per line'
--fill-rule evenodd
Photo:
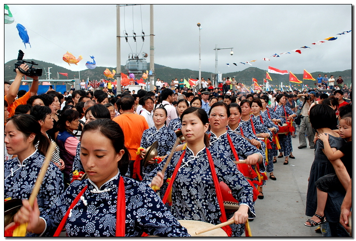
<path fill-rule="evenodd" d="M 47 230 L 55 232 L 74 198 L 88 185 L 68 216 L 65 224 L 67 235 L 115 237 L 119 179 L 118 173 L 100 188 L 89 179 L 71 183 L 48 211 L 52 218 L 47 222 Z M 131 178 L 123 177 L 123 180 L 126 237 L 139 237 L 143 232 L 154 236 L 189 236 L 151 188 Z"/>

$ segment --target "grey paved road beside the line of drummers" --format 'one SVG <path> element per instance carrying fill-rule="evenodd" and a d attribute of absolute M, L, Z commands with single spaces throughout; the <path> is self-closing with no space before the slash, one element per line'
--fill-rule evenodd
<path fill-rule="evenodd" d="M 284 157 L 277 158 L 273 172 L 277 180 L 268 179 L 264 199 L 256 200 L 257 217 L 250 222 L 253 237 L 322 237 L 315 228 L 303 225 L 310 218 L 305 216 L 305 201 L 314 149 L 298 149 L 298 136 L 292 138 L 292 145 L 296 159 L 283 165 Z"/>

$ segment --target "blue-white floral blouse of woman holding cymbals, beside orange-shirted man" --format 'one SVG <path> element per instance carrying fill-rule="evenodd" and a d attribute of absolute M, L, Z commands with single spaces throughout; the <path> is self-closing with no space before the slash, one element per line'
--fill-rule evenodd
<path fill-rule="evenodd" d="M 158 156 L 165 156 L 171 153 L 171 150 L 177 140 L 177 135 L 174 131 L 164 125 L 159 130 L 151 127 L 143 131 L 141 138 L 141 147 L 147 149 L 154 142 L 158 142 L 157 152 Z M 157 163 L 149 164 L 147 167 L 142 167 L 142 174 L 148 175 L 157 167 Z"/>

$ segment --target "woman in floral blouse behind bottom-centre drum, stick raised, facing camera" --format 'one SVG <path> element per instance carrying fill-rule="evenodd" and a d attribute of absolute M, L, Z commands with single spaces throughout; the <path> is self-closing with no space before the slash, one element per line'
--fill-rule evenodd
<path fill-rule="evenodd" d="M 226 221 L 222 195 L 219 192 L 219 182 L 222 181 L 229 186 L 240 205 L 232 219 L 236 224 L 245 223 L 248 212 L 254 215 L 252 187 L 230 158 L 220 151 L 208 150 L 209 137 L 205 132 L 209 123 L 206 112 L 201 108 L 190 107 L 180 118 L 186 149 L 174 153 L 164 175 L 158 171 L 162 170 L 165 161 L 144 181 L 149 183 L 152 180 L 151 187 L 161 187 L 163 182 L 172 177 L 163 199 L 166 202 L 172 187 L 172 214 L 177 219 L 211 224 Z M 251 159 L 253 158 L 256 157 Z M 225 231 L 231 235 L 230 226 L 226 226 Z"/>

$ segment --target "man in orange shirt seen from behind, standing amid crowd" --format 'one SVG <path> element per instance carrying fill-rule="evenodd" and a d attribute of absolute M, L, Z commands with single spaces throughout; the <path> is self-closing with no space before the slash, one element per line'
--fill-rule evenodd
<path fill-rule="evenodd" d="M 132 178 L 133 163 L 136 160 L 136 151 L 141 144 L 143 131 L 148 129 L 148 124 L 142 115 L 133 113 L 135 110 L 132 96 L 123 96 L 119 101 L 120 115 L 113 121 L 119 124 L 125 137 L 125 146 L 130 153 L 129 175 Z M 125 175 L 125 173 L 122 173 Z"/>

